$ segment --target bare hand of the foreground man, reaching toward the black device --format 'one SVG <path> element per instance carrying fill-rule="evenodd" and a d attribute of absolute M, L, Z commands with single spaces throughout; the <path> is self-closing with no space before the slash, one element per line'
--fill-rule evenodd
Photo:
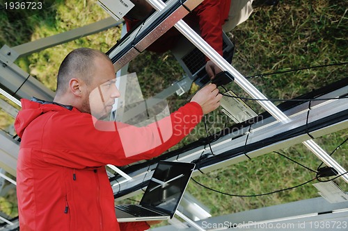
<path fill-rule="evenodd" d="M 220 100 L 222 95 L 219 94 L 219 89 L 216 85 L 209 84 L 202 89 L 200 89 L 191 99 L 191 102 L 198 103 L 203 110 L 203 114 L 208 114 L 212 112 L 220 105 Z"/>

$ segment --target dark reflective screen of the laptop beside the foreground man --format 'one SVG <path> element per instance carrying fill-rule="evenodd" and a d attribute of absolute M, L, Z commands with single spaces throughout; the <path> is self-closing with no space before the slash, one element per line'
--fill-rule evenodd
<path fill-rule="evenodd" d="M 140 205 L 156 207 L 173 217 L 194 166 L 193 163 L 159 162 Z"/>

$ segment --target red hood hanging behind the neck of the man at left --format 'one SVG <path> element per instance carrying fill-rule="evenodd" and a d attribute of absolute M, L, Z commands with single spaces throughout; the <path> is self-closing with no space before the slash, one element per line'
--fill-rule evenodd
<path fill-rule="evenodd" d="M 61 105 L 59 103 L 43 101 L 33 98 L 31 101 L 28 99 L 21 99 L 22 110 L 19 111 L 15 119 L 15 130 L 19 137 L 22 137 L 24 130 L 27 126 L 41 114 L 52 111 L 72 110 L 72 106 Z M 77 109 L 75 109 L 77 110 Z"/>

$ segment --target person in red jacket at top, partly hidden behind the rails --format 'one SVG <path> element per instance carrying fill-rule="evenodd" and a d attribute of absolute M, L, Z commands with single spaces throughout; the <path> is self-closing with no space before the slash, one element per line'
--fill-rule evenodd
<path fill-rule="evenodd" d="M 148 16 L 152 7 L 145 0 L 131 0 L 134 8 L 124 17 L 127 30 L 136 26 Z M 232 31 L 235 26 L 246 21 L 253 12 L 253 0 L 204 0 L 192 12 L 184 17 L 184 22 L 196 28 L 200 35 L 220 55 L 223 55 L 223 31 Z M 148 51 L 165 52 L 172 49 L 182 34 L 176 28 L 171 28 L 148 47 Z M 205 70 L 210 78 L 214 78 L 221 69 L 206 58 Z"/>

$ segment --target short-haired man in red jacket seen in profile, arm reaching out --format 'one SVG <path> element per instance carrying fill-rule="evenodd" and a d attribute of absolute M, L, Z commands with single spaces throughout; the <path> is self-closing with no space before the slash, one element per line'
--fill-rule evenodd
<path fill-rule="evenodd" d="M 96 92 L 102 103 L 93 98 Z M 145 222 L 118 224 L 104 166 L 161 155 L 180 142 L 203 114 L 219 107 L 222 97 L 216 85 L 208 85 L 169 117 L 143 128 L 126 126 L 136 151 L 132 153 L 131 146 L 125 153 L 118 132 L 125 125 L 97 121 L 91 114 L 103 117 L 119 96 L 109 57 L 82 48 L 63 60 L 53 102 L 22 99 L 15 121 L 22 138 L 17 161 L 21 231 L 147 230 Z M 171 136 L 156 146 L 154 137 L 168 119 Z"/>

